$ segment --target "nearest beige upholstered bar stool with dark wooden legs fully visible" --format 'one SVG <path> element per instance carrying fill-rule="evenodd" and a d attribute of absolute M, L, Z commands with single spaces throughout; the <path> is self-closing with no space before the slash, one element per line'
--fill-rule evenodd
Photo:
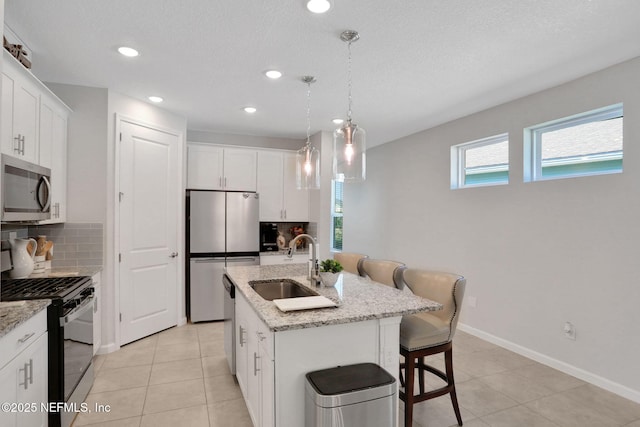
<path fill-rule="evenodd" d="M 400 354 L 404 356 L 404 363 L 400 365 L 400 381 L 404 391 L 400 391 L 400 399 L 405 403 L 404 425 L 411 427 L 413 423 L 414 403 L 450 394 L 458 425 L 461 426 L 462 417 L 453 379 L 452 339 L 460 317 L 466 279 L 457 274 L 412 268 L 405 269 L 402 276 L 414 294 L 443 305 L 442 310 L 404 316 L 400 323 Z M 438 353 L 444 353 L 445 372 L 425 363 L 426 356 Z M 403 380 L 403 368 L 406 380 Z M 419 375 L 418 394 L 414 394 L 416 369 Z M 425 391 L 425 371 L 440 377 L 446 385 Z"/>

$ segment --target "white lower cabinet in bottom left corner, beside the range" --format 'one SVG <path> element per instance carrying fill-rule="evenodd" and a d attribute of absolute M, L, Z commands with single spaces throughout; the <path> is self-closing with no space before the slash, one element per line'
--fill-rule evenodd
<path fill-rule="evenodd" d="M 0 339 L 0 402 L 8 405 L 0 411 L 0 426 L 47 425 L 41 406 L 48 401 L 46 313 L 42 310 Z"/>

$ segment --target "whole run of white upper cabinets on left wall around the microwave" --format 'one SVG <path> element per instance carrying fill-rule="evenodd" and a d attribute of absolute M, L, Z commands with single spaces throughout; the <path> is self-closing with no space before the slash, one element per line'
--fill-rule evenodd
<path fill-rule="evenodd" d="M 51 169 L 51 219 L 42 223 L 64 222 L 71 110 L 6 51 L 3 61 L 2 153 Z"/>

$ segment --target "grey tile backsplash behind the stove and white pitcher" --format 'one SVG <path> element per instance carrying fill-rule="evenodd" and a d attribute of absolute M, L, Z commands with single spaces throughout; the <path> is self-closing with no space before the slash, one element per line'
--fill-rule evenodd
<path fill-rule="evenodd" d="M 104 226 L 102 223 L 65 223 L 50 225 L 2 226 L 2 247 L 9 233 L 17 237 L 45 235 L 53 241 L 52 267 L 102 267 L 104 265 Z"/>

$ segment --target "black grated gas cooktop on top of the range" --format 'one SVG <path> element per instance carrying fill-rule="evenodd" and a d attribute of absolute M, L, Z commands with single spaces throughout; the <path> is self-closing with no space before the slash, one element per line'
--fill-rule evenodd
<path fill-rule="evenodd" d="M 63 299 L 74 293 L 85 283 L 91 283 L 89 276 L 39 277 L 36 279 L 9 279 L 2 281 L 2 301 L 24 299 Z"/>

